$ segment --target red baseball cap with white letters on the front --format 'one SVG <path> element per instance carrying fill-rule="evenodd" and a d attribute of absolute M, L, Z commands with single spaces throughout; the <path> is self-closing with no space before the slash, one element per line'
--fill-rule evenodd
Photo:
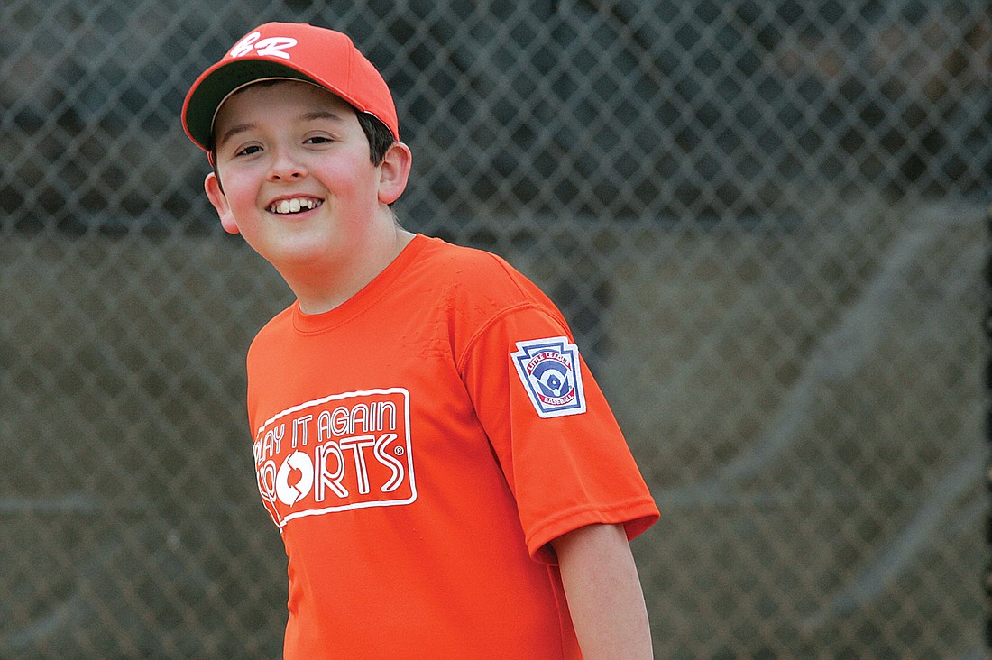
<path fill-rule="evenodd" d="M 183 103 L 183 128 L 209 151 L 220 104 L 252 82 L 305 80 L 340 96 L 385 124 L 397 141 L 399 122 L 393 95 L 382 74 L 340 32 L 306 23 L 266 23 L 249 32 L 192 83 Z"/>

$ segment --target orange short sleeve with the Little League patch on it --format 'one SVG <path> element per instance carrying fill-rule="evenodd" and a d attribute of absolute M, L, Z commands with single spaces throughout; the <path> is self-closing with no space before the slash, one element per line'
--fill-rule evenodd
<path fill-rule="evenodd" d="M 516 498 L 532 557 L 593 523 L 628 539 L 658 508 L 603 394 L 557 310 L 525 304 L 493 318 L 459 371 Z"/>

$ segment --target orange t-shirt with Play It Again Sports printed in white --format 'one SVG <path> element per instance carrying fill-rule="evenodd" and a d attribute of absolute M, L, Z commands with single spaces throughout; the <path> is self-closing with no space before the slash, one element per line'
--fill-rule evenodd
<path fill-rule="evenodd" d="M 658 509 L 555 306 L 418 235 L 248 353 L 259 492 L 289 556 L 285 657 L 580 657 L 554 553 Z"/>

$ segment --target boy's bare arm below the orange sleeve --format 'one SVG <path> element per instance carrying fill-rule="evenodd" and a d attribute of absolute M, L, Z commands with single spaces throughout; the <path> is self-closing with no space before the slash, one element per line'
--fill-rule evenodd
<path fill-rule="evenodd" d="M 652 658 L 651 627 L 623 525 L 587 525 L 552 541 L 582 656 Z"/>

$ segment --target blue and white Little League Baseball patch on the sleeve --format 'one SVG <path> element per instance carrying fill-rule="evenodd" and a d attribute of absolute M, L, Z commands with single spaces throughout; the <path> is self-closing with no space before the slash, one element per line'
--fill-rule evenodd
<path fill-rule="evenodd" d="M 585 412 L 578 347 L 568 337 L 518 341 L 511 353 L 524 389 L 541 417 Z"/>

